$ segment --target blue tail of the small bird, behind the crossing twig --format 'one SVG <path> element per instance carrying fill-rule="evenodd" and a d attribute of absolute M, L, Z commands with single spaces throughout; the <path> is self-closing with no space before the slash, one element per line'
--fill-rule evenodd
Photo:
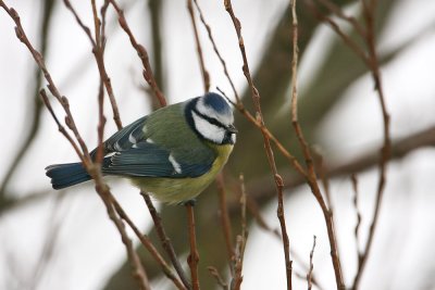
<path fill-rule="evenodd" d="M 71 187 L 91 179 L 82 163 L 50 165 L 46 167 L 46 175 L 51 178 L 53 189 Z"/>

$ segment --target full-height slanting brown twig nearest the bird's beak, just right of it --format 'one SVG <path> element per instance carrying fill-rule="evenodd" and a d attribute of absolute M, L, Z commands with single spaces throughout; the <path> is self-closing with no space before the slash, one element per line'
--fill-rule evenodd
<path fill-rule="evenodd" d="M 246 55 L 245 41 L 244 41 L 244 38 L 241 35 L 241 24 L 240 24 L 240 21 L 234 14 L 232 1 L 224 0 L 224 5 L 225 5 L 226 12 L 228 13 L 229 17 L 233 21 L 233 25 L 236 30 L 241 59 L 244 61 L 243 72 L 248 81 L 249 88 L 251 90 L 252 102 L 253 102 L 253 106 L 256 109 L 256 119 L 259 124 L 261 124 L 261 126 L 264 126 L 264 119 L 263 119 L 263 115 L 261 112 L 261 104 L 260 104 L 260 93 L 257 90 L 257 88 L 253 84 L 251 74 L 250 74 L 248 59 Z M 287 289 L 291 289 L 291 261 L 290 261 L 290 251 L 289 251 L 289 240 L 288 240 L 285 215 L 284 215 L 283 179 L 281 178 L 281 176 L 277 172 L 277 168 L 276 168 L 275 157 L 274 157 L 274 153 L 273 153 L 273 150 L 271 147 L 270 137 L 264 133 L 264 130 L 261 130 L 261 133 L 263 136 L 263 142 L 264 142 L 264 148 L 265 148 L 265 153 L 268 156 L 269 165 L 270 165 L 270 168 L 271 168 L 272 174 L 275 179 L 275 188 L 276 188 L 276 193 L 277 193 L 277 199 L 278 199 L 277 216 L 279 219 L 281 231 L 282 231 L 282 237 L 283 237 L 283 249 L 284 249 L 285 268 L 286 268 L 286 277 L 287 277 Z"/>

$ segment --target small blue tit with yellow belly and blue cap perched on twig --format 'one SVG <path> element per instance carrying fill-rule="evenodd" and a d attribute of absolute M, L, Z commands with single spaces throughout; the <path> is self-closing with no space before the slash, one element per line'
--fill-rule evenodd
<path fill-rule="evenodd" d="M 162 202 L 192 200 L 228 160 L 237 134 L 233 123 L 231 106 L 214 92 L 161 108 L 104 141 L 101 172 L 126 177 Z M 82 163 L 46 171 L 54 189 L 91 179 Z"/>

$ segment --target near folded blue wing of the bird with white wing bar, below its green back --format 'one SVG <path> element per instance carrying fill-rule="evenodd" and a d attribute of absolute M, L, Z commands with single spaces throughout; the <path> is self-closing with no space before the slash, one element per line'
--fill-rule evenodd
<path fill-rule="evenodd" d="M 107 175 L 130 177 L 198 177 L 210 171 L 214 154 L 194 160 L 195 162 L 188 162 L 182 156 L 175 157 L 171 151 L 142 141 L 105 157 L 102 172 Z"/>

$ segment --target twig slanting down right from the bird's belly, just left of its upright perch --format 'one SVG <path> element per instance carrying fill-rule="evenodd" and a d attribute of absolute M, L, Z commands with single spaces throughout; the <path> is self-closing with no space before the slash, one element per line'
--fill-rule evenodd
<path fill-rule="evenodd" d="M 150 215 L 151 215 L 152 220 L 156 226 L 157 235 L 159 236 L 162 247 L 165 250 L 166 254 L 169 255 L 172 265 L 174 266 L 176 273 L 178 274 L 179 279 L 182 279 L 183 285 L 187 289 L 191 289 L 190 282 L 186 278 L 186 274 L 184 273 L 183 267 L 179 264 L 178 257 L 175 254 L 175 250 L 172 247 L 171 239 L 167 237 L 166 231 L 163 228 L 162 218 L 160 217 L 159 213 L 157 212 L 154 205 L 152 204 L 151 198 L 144 191 L 140 191 L 140 196 L 142 196 L 142 198 L 148 206 L 148 210 L 150 212 Z"/>

